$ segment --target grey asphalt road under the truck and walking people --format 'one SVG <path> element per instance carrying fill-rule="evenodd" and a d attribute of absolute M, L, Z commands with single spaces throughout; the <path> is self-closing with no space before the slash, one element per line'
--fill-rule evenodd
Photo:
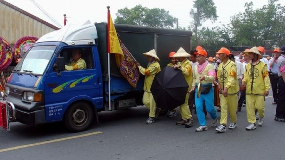
<path fill-rule="evenodd" d="M 61 123 L 36 127 L 14 122 L 11 131 L 0 129 L 1 160 L 109 160 L 109 159 L 246 159 L 284 160 L 285 123 L 274 121 L 276 105 L 273 98 L 266 99 L 264 124 L 246 131 L 246 108 L 238 112 L 238 127 L 216 133 L 195 132 L 199 127 L 194 114 L 191 128 L 177 126 L 177 117 L 160 116 L 155 123 L 145 124 L 148 116 L 146 107 L 138 106 L 123 111 L 99 113 L 99 125 L 80 133 L 69 133 Z M 218 112 L 220 115 L 220 112 Z M 95 134 L 94 132 L 98 132 Z M 102 132 L 102 133 L 100 133 Z M 93 133 L 84 137 L 61 139 Z M 61 139 L 61 141 L 53 141 Z M 35 145 L 39 142 L 47 144 Z M 32 144 L 30 147 L 3 151 L 2 149 Z"/>

